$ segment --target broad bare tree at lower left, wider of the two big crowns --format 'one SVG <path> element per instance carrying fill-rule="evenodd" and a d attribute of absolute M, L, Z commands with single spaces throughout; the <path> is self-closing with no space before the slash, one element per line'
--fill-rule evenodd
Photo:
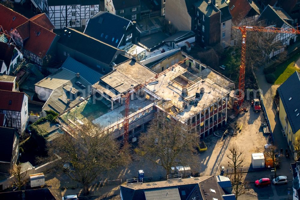
<path fill-rule="evenodd" d="M 61 158 L 55 165 L 81 183 L 85 195 L 93 181 L 130 161 L 128 148 L 121 148 L 109 132 L 89 121 L 56 138 L 48 145 L 48 153 Z"/>

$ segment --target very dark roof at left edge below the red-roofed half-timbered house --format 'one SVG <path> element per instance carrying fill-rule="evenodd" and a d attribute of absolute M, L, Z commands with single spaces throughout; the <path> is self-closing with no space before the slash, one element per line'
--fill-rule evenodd
<path fill-rule="evenodd" d="M 0 127 L 0 161 L 2 162 L 11 162 L 11 156 L 13 152 L 13 138 L 14 136 L 18 137 L 18 134 L 16 133 L 16 129 L 13 128 L 7 128 L 7 127 Z M 1 194 L 1 193 L 0 193 Z M 1 198 L 0 199 L 5 199 Z M 10 198 L 13 199 L 13 198 Z"/>

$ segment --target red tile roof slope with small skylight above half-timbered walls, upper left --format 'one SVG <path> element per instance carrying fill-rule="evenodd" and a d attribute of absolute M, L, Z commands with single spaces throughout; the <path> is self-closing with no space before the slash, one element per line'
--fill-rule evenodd
<path fill-rule="evenodd" d="M 29 21 L 29 34 L 24 49 L 44 58 L 56 34 L 31 21 Z"/>

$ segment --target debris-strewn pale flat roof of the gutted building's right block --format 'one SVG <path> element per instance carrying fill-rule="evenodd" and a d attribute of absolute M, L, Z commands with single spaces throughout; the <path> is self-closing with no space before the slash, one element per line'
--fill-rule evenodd
<path fill-rule="evenodd" d="M 188 104 L 188 108 L 178 114 L 180 117 L 185 118 L 189 117 L 190 114 L 202 111 L 229 94 L 230 89 L 227 86 L 210 79 L 210 76 L 215 73 L 217 72 L 212 71 L 210 68 L 205 68 L 202 70 L 202 73 L 200 73 L 202 76 L 200 76 L 200 74 L 196 76 L 179 65 L 175 67 L 173 71 L 169 71 L 164 76 L 159 77 L 158 84 L 147 85 L 146 89 L 163 99 L 169 99 L 172 103 L 179 106 L 182 106 L 183 102 L 187 102 L 186 100 L 188 99 L 193 98 L 194 100 L 197 100 L 197 106 Z M 211 75 L 208 76 L 209 74 Z M 195 83 L 187 87 L 187 96 L 185 99 L 182 99 L 182 86 L 172 80 L 176 80 L 176 82 L 182 83 L 183 85 L 192 81 L 195 81 Z M 196 92 L 199 93 L 200 88 L 204 88 L 204 93 L 196 98 Z"/>

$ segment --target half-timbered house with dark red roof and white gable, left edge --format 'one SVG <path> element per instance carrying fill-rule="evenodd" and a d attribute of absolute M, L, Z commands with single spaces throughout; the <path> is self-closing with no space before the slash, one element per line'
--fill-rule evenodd
<path fill-rule="evenodd" d="M 0 90 L 0 113 L 7 116 L 7 127 L 22 135 L 28 125 L 28 96 L 24 92 Z"/>

